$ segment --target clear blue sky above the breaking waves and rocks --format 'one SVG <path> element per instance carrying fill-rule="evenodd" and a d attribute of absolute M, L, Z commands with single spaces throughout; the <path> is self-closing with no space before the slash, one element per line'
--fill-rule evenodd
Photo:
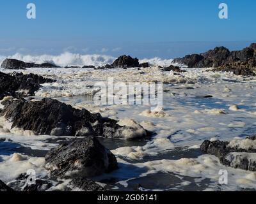
<path fill-rule="evenodd" d="M 26 5 L 36 4 L 36 19 Z M 228 4 L 228 19 L 218 5 Z M 254 0 L 1 0 L 0 55 L 130 54 L 172 58 L 256 41 Z"/>

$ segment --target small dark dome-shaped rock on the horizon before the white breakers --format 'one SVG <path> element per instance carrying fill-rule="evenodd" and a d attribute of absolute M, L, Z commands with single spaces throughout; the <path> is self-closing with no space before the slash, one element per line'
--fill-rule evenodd
<path fill-rule="evenodd" d="M 133 59 L 131 56 L 122 55 L 111 64 L 113 68 L 138 68 L 140 65 L 137 58 Z"/>

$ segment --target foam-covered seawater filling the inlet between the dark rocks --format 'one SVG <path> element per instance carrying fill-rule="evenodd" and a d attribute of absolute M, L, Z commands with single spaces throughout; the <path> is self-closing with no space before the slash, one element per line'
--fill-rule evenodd
<path fill-rule="evenodd" d="M 157 61 L 159 59 L 154 59 L 151 63 Z M 168 62 L 164 61 L 163 64 Z M 227 168 L 216 157 L 202 155 L 198 149 L 204 140 L 231 141 L 236 137 L 255 133 L 256 78 L 207 70 L 187 69 L 187 73 L 180 75 L 159 71 L 156 67 L 141 70 L 33 68 L 22 72 L 39 73 L 44 77 L 57 79 L 56 83 L 44 84 L 36 92 L 35 99 L 56 98 L 76 108 L 86 108 L 90 112 L 99 112 L 104 117 L 121 120 L 122 125 L 140 124 L 156 133 L 152 140 L 145 143 L 132 142 L 127 145 L 127 142 L 120 140 L 112 141 L 118 145 L 108 143 L 108 147 L 118 157 L 120 169 L 93 179 L 101 183 L 108 179 L 115 180 L 110 184 L 108 182 L 109 188 L 132 190 L 140 183 L 145 187 L 144 190 L 255 189 L 255 173 Z M 99 91 L 99 87 L 94 87 L 94 84 L 106 82 L 109 77 L 124 83 L 163 82 L 163 109 L 152 110 L 150 105 L 96 105 L 93 103 L 93 95 Z M 204 98 L 209 95 L 212 98 Z M 6 140 L 7 146 L 4 154 L 0 152 L 0 155 L 3 154 L 0 156 L 0 178 L 4 177 L 5 182 L 15 179 L 17 173 L 8 173 L 8 170 L 16 168 L 17 162 L 22 164 L 20 171 L 31 168 L 33 164 L 38 175 L 44 175 L 42 157 L 31 157 L 22 153 L 24 159 L 15 161 L 12 159 L 14 152 L 8 149 L 8 145 L 19 144 L 21 147 L 46 151 L 57 145 L 49 140 L 58 138 L 33 136 L 22 130 L 13 133 L 10 124 L 6 124 L 4 120 L 1 122 L 3 128 L 0 129 L 0 138 Z M 218 185 L 220 170 L 228 171 L 227 186 Z M 161 180 L 161 185 L 158 180 Z"/>

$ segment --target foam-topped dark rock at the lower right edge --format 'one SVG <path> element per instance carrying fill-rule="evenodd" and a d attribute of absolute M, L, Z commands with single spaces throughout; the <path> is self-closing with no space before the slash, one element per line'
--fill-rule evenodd
<path fill-rule="evenodd" d="M 221 164 L 242 170 L 256 171 L 256 137 L 231 142 L 205 140 L 200 149 L 220 159 Z"/>

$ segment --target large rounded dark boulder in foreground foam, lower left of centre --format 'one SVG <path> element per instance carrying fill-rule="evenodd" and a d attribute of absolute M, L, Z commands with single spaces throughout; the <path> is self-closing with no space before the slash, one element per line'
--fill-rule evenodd
<path fill-rule="evenodd" d="M 97 138 L 88 136 L 48 152 L 45 156 L 45 168 L 52 176 L 73 178 L 109 173 L 118 166 L 116 157 Z"/>

